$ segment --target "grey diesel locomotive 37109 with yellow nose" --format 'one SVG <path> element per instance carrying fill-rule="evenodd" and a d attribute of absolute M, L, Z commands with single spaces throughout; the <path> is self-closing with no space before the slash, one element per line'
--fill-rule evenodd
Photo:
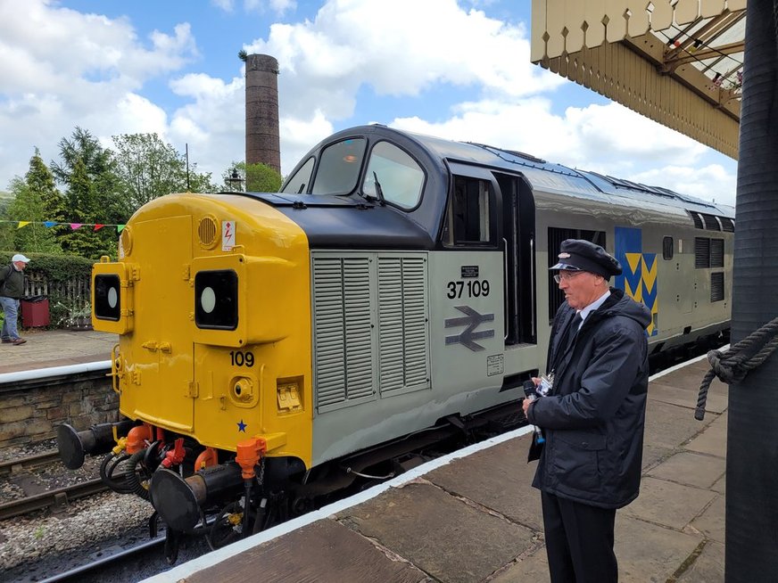
<path fill-rule="evenodd" d="M 169 536 L 245 536 L 523 396 L 567 238 L 619 259 L 652 353 L 725 335 L 734 225 L 522 152 L 338 132 L 278 193 L 170 194 L 130 218 L 92 281 L 95 330 L 119 335 L 121 420 L 60 427 L 62 460 L 105 453 L 103 480 Z"/>

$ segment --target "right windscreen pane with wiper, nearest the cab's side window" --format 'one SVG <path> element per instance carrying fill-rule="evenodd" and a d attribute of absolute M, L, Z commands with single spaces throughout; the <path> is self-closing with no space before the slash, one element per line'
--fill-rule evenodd
<path fill-rule="evenodd" d="M 370 152 L 362 193 L 403 209 L 413 209 L 421 199 L 424 170 L 410 155 L 388 142 L 379 142 Z M 380 192 L 379 192 L 380 190 Z"/>

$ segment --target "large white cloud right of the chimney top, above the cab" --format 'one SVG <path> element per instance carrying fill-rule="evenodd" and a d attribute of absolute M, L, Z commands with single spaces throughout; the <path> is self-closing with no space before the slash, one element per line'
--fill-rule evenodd
<path fill-rule="evenodd" d="M 409 18 L 409 14 L 413 14 Z M 331 119 L 354 111 L 354 95 L 423 94 L 444 84 L 519 97 L 564 81 L 529 62 L 523 24 L 465 11 L 454 0 L 331 1 L 313 21 L 277 23 L 249 53 L 277 57 L 292 115 L 313 104 Z"/>

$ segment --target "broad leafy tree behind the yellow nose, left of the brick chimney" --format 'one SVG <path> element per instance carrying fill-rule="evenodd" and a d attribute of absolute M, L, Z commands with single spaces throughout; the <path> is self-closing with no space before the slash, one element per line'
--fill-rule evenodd
<path fill-rule="evenodd" d="M 170 193 L 213 190 L 210 173 L 186 171 L 186 159 L 156 134 L 114 135 L 117 173 L 128 206 L 137 210 L 148 201 Z"/>

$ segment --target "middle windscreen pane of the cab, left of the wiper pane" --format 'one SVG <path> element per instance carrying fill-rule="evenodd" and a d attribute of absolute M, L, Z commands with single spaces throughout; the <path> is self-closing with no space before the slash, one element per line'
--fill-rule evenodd
<path fill-rule="evenodd" d="M 365 138 L 355 137 L 328 145 L 321 152 L 311 194 L 352 193 L 365 157 Z"/>

